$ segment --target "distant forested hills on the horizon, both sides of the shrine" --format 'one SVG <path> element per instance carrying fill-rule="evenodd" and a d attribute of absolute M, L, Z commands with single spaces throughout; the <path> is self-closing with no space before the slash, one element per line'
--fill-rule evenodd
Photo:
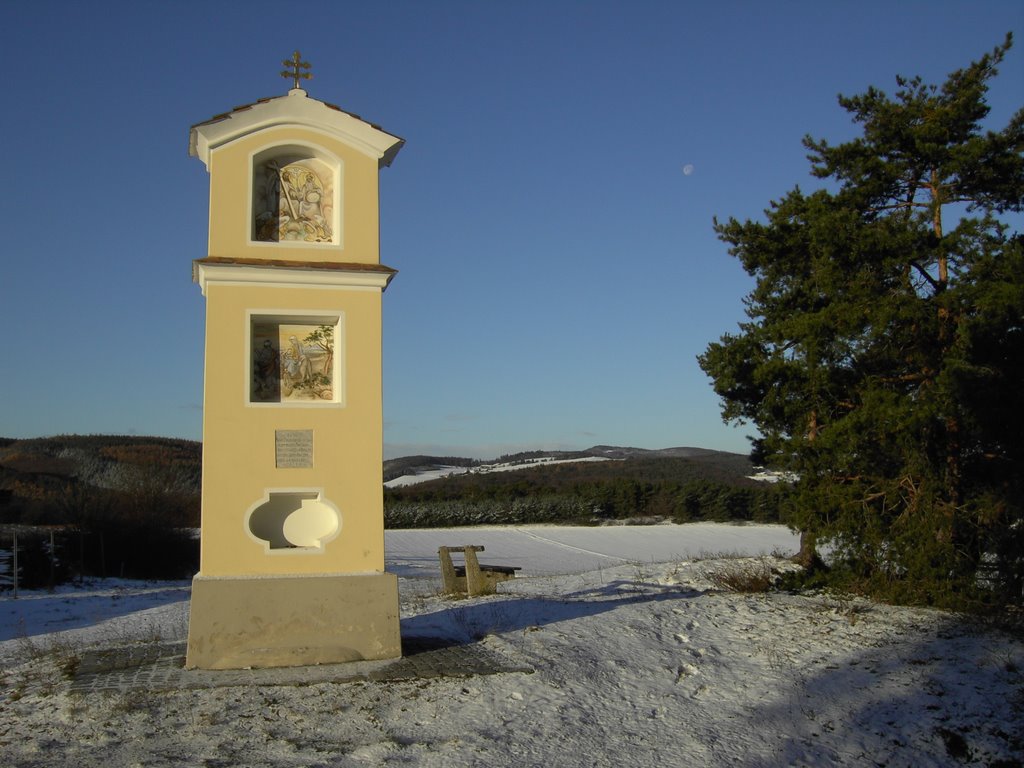
<path fill-rule="evenodd" d="M 594 458 L 606 461 L 593 461 Z M 573 461 L 586 459 L 588 461 Z M 521 469 L 515 469 L 521 466 Z M 695 447 L 595 445 L 528 452 L 484 463 L 413 456 L 384 478 L 459 467 L 453 475 L 384 492 L 391 527 L 780 518 L 783 485 L 750 479 L 745 456 Z M 0 524 L 94 529 L 158 521 L 199 525 L 202 444 L 165 437 L 0 438 Z"/>

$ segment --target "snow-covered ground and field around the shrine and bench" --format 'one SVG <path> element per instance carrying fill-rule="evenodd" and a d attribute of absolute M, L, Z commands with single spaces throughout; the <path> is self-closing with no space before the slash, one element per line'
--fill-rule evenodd
<path fill-rule="evenodd" d="M 522 567 L 437 595 L 439 545 Z M 534 674 L 72 693 L 94 645 L 183 639 L 187 585 L 0 599 L 0 764 L 10 766 L 1014 766 L 1024 643 L 938 611 L 723 591 L 782 567 L 777 526 L 387 534 L 402 629 Z M 761 557 L 722 557 L 723 554 Z"/>

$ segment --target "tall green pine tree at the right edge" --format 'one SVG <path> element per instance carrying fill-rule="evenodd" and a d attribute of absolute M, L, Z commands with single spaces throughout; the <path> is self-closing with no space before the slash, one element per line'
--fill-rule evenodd
<path fill-rule="evenodd" d="M 1024 207 L 1024 110 L 982 127 L 1011 44 L 941 87 L 841 96 L 862 135 L 804 139 L 829 188 L 715 222 L 756 281 L 739 332 L 698 358 L 723 418 L 797 473 L 803 554 L 827 540 L 894 598 L 1020 601 L 1024 585 L 1024 239 L 1004 220 Z"/>

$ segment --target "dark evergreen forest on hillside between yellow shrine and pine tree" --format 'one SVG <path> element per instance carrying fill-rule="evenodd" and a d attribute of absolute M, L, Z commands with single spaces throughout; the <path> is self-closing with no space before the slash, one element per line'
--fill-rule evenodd
<path fill-rule="evenodd" d="M 785 486 L 749 479 L 741 456 L 650 458 L 467 472 L 384 492 L 385 525 L 659 519 L 779 522 Z"/>

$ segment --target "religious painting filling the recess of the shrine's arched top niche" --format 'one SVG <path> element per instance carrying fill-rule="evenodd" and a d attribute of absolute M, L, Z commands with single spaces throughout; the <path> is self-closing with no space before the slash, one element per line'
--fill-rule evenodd
<path fill-rule="evenodd" d="M 333 243 L 334 174 L 324 163 L 271 161 L 253 189 L 254 239 Z"/>

